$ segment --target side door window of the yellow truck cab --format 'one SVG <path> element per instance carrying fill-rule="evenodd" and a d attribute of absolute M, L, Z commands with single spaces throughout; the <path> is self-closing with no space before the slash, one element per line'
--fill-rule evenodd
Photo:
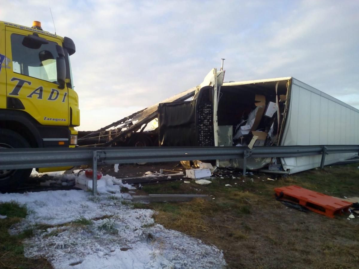
<path fill-rule="evenodd" d="M 24 37 L 20 34 L 11 34 L 13 71 L 57 83 L 56 57 L 58 54 L 55 47 L 57 44 L 49 41 L 38 49 L 28 48 L 22 44 Z"/>

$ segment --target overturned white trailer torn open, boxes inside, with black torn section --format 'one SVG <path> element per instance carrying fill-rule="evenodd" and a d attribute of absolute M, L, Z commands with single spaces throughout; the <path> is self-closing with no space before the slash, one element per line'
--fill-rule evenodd
<path fill-rule="evenodd" d="M 202 99 L 206 95 L 209 99 Z M 292 77 L 225 82 L 218 87 L 218 98 L 214 96 L 214 87 L 203 87 L 192 101 L 160 104 L 160 146 L 359 144 L 359 110 Z M 217 104 L 213 100 L 218 100 Z M 204 105 L 209 110 L 200 119 Z M 183 109 L 186 106 L 191 107 L 190 112 Z M 213 140 L 208 139 L 211 132 Z M 332 154 L 326 157 L 325 165 L 354 156 Z M 250 158 L 246 167 L 260 169 L 270 165 L 292 174 L 319 167 L 320 161 L 320 155 L 278 160 Z M 243 159 L 219 160 L 219 165 L 243 168 Z"/>

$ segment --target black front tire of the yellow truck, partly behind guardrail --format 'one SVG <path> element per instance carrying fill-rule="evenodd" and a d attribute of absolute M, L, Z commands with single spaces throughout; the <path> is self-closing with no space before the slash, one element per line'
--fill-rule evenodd
<path fill-rule="evenodd" d="M 0 150 L 2 148 L 27 148 L 29 142 L 17 132 L 0 129 Z M 19 187 L 31 174 L 32 169 L 0 170 L 0 190 Z"/>

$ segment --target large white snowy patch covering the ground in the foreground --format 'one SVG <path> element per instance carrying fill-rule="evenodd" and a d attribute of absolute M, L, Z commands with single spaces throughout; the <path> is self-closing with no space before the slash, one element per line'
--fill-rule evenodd
<path fill-rule="evenodd" d="M 105 184 L 112 182 L 107 179 Z M 24 242 L 25 256 L 45 257 L 55 269 L 225 267 L 215 246 L 154 223 L 154 211 L 132 209 L 121 203 L 122 195 L 57 190 L 0 194 L 0 201 L 27 205 L 28 216 L 11 233 L 39 223 L 56 225 L 45 232 L 35 229 Z M 68 225 L 80 215 L 92 224 Z"/>

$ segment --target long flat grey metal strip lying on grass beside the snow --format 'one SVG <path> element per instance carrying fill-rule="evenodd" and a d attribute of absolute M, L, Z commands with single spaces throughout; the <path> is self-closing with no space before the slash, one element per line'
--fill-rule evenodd
<path fill-rule="evenodd" d="M 189 202 L 195 198 L 210 200 L 208 195 L 203 194 L 149 194 L 134 195 L 133 202 Z"/>

